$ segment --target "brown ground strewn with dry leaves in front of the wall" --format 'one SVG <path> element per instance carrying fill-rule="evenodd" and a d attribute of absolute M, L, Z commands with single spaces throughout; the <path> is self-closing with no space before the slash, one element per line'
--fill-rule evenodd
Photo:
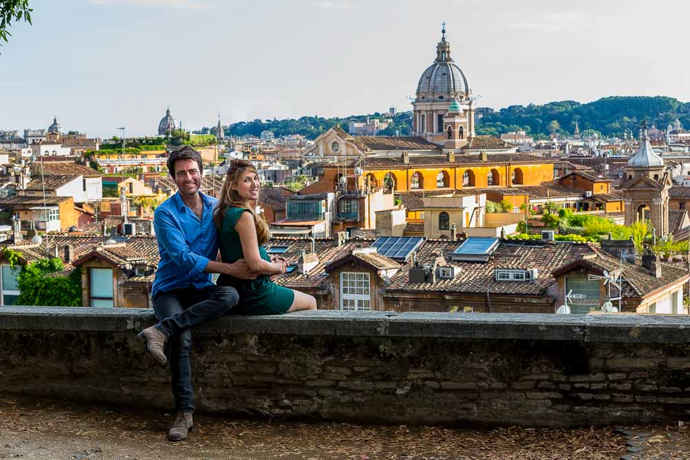
<path fill-rule="evenodd" d="M 7 397 L 0 399 L 0 459 L 690 459 L 688 430 L 669 427 L 629 427 L 625 432 L 455 430 L 198 414 L 188 440 L 170 443 L 165 432 L 173 418 L 161 412 Z"/>

